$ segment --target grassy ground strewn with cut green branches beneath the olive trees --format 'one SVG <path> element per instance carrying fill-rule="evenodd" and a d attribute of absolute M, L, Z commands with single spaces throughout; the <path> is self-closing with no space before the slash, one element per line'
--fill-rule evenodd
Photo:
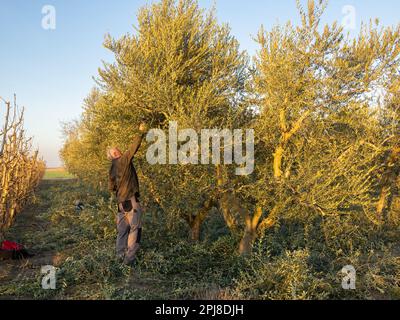
<path fill-rule="evenodd" d="M 76 211 L 74 201 L 85 204 Z M 336 250 L 299 225 L 282 223 L 249 258 L 218 214 L 205 222 L 202 240 L 188 239 L 185 224 L 168 228 L 165 217 L 146 211 L 136 266 L 114 257 L 114 208 L 108 198 L 74 180 L 45 180 L 32 206 L 17 217 L 7 238 L 36 254 L 0 262 L 0 298 L 14 299 L 399 299 L 400 244 L 372 239 L 339 243 Z M 290 233 L 288 233 L 290 230 Z M 22 232 L 23 231 L 23 232 Z M 304 231 L 304 230 L 303 230 Z M 395 235 L 393 235 L 395 237 Z M 340 240 L 338 240 L 340 241 Z M 341 287 L 341 268 L 357 268 L 357 290 Z M 57 289 L 41 288 L 40 268 L 54 265 Z"/>

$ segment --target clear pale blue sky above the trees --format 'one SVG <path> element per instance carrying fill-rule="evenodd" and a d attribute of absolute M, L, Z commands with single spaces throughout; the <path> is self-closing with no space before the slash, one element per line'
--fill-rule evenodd
<path fill-rule="evenodd" d="M 295 0 L 199 0 L 204 8 L 214 2 L 219 21 L 230 24 L 250 54 L 257 49 L 252 36 L 261 24 L 269 29 L 277 22 L 298 21 Z M 101 61 L 113 60 L 102 47 L 104 35 L 133 31 L 137 10 L 146 3 L 150 1 L 0 0 L 0 96 L 10 100 L 16 93 L 26 107 L 27 133 L 48 166 L 60 165 L 60 122 L 79 118 Z M 56 9 L 55 30 L 42 28 L 45 5 Z M 341 21 L 346 5 L 356 9 L 356 30 L 361 20 L 375 17 L 384 25 L 399 23 L 398 0 L 331 0 L 324 20 Z"/>

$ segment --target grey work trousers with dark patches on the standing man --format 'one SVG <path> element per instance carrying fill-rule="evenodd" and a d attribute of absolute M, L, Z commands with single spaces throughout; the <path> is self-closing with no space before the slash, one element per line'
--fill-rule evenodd
<path fill-rule="evenodd" d="M 140 247 L 142 208 L 136 198 L 133 197 L 130 203 L 119 204 L 118 209 L 117 256 L 124 258 L 124 263 L 131 264 L 135 260 Z"/>

